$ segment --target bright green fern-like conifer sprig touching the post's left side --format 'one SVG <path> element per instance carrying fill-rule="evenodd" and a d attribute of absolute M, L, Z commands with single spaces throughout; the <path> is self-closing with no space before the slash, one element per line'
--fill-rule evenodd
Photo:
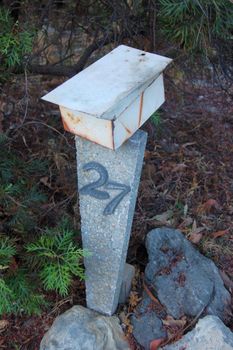
<path fill-rule="evenodd" d="M 75 233 L 60 225 L 46 229 L 34 243 L 27 245 L 31 264 L 37 269 L 46 290 L 56 290 L 60 295 L 68 294 L 73 277 L 84 279 L 81 266 L 87 252 L 75 244 Z"/>

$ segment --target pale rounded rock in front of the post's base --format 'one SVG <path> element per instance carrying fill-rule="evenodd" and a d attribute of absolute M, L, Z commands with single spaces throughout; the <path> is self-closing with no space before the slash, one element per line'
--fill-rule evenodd
<path fill-rule="evenodd" d="M 110 349 L 129 350 L 118 318 L 83 306 L 73 306 L 58 316 L 40 344 L 40 350 Z"/>

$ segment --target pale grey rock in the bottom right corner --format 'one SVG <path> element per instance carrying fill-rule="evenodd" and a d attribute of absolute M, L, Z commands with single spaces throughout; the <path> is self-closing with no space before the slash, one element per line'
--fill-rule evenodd
<path fill-rule="evenodd" d="M 232 350 L 233 333 L 216 316 L 200 319 L 196 327 L 163 350 Z"/>

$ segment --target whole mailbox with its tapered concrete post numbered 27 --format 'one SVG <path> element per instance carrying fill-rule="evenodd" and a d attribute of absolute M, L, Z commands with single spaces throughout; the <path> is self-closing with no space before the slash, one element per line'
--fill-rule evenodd
<path fill-rule="evenodd" d="M 106 315 L 129 278 L 125 261 L 147 140 L 138 129 L 164 102 L 162 72 L 170 61 L 121 45 L 43 97 L 59 105 L 65 129 L 77 135 L 82 243 L 91 252 L 84 259 L 87 306 Z"/>

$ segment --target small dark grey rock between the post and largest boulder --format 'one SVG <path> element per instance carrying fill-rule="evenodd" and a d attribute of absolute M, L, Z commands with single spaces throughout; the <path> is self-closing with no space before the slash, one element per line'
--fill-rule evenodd
<path fill-rule="evenodd" d="M 144 293 L 142 302 L 131 317 L 131 324 L 134 338 L 145 350 L 150 350 L 152 340 L 167 337 L 160 317 L 162 314 L 155 310 L 153 301 Z"/>

